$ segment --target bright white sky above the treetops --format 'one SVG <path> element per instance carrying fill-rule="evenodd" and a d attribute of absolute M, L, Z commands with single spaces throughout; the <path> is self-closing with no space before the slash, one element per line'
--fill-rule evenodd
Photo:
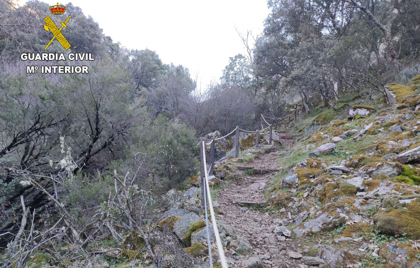
<path fill-rule="evenodd" d="M 59 3 L 66 5 L 67 1 Z M 55 5 L 57 0 L 50 2 Z M 269 14 L 266 0 L 72 0 L 71 3 L 86 16 L 92 16 L 114 42 L 130 49 L 155 50 L 164 63 L 187 67 L 193 79 L 198 73 L 202 88 L 210 80 L 220 78 L 229 57 L 245 54 L 235 27 L 239 32 L 250 30 L 254 35 L 260 34 Z"/>

